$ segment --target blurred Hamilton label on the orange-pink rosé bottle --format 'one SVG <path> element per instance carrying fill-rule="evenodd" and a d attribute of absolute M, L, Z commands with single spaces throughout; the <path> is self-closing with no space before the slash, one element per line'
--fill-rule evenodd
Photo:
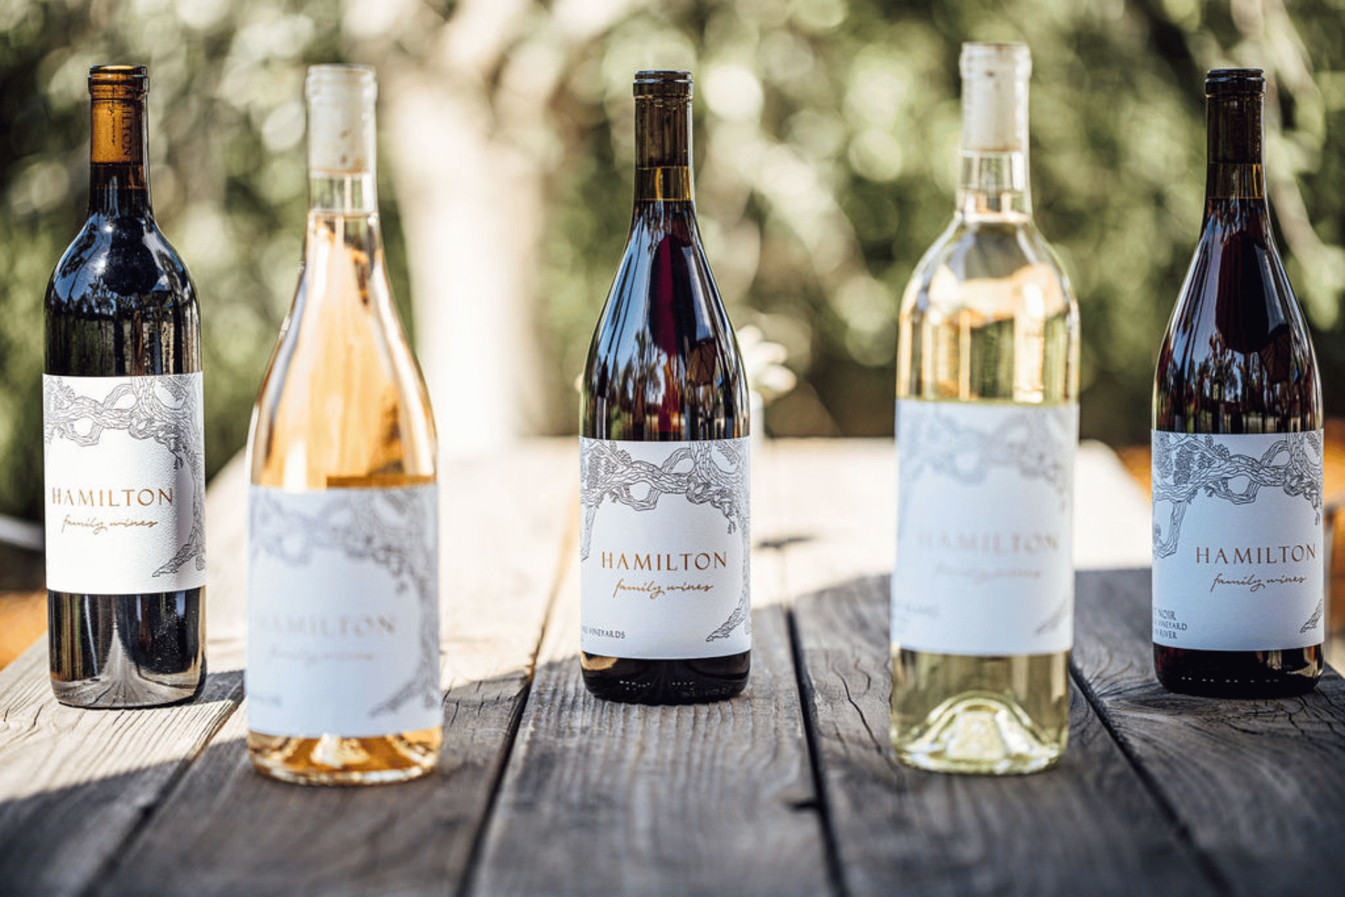
<path fill-rule="evenodd" d="M 440 726 L 438 488 L 253 485 L 247 498 L 247 728 Z"/>

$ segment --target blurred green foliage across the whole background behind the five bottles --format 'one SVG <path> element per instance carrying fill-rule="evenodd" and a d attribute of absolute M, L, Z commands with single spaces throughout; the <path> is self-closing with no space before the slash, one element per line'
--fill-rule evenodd
<path fill-rule="evenodd" d="M 576 1 L 515 0 L 496 15 L 531 52 Z M 42 296 L 83 217 L 87 66 L 151 66 L 151 183 L 203 297 L 214 472 L 242 446 L 297 276 L 303 67 L 389 52 L 348 27 L 355 3 L 0 5 L 0 512 L 40 514 Z M 1333 389 L 1345 374 L 1345 0 L 1291 12 L 1278 0 L 592 3 L 616 12 L 558 63 L 535 122 L 546 137 L 535 319 L 555 371 L 543 385 L 551 429 L 573 429 L 572 383 L 628 227 L 631 75 L 689 67 L 712 265 L 734 323 L 784 344 L 800 379 L 768 409 L 768 428 L 889 433 L 897 300 L 952 210 L 959 44 L 986 39 L 1033 50 L 1033 190 L 1080 300 L 1084 433 L 1147 441 L 1153 358 L 1202 211 L 1202 75 L 1227 65 L 1267 69 L 1282 249 L 1315 329 L 1329 410 L 1345 410 Z M 425 0 L 417 15 L 448 30 L 488 5 Z M 433 38 L 402 40 L 401 52 Z M 487 75 L 477 90 L 492 102 Z M 416 186 L 386 164 L 381 176 L 410 325 L 395 199 Z"/>

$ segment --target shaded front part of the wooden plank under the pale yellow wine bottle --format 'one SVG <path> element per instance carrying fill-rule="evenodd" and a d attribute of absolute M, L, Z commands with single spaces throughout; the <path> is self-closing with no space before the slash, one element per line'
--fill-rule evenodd
<path fill-rule="evenodd" d="M 1053 771 L 978 777 L 898 764 L 886 613 L 881 576 L 795 607 L 850 894 L 1219 893 L 1077 690 Z"/>

